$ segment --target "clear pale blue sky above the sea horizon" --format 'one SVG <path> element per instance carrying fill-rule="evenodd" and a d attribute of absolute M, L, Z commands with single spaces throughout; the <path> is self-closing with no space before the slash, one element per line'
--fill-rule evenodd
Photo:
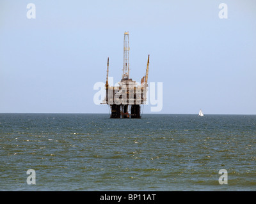
<path fill-rule="evenodd" d="M 120 81 L 129 31 L 130 77 L 150 54 L 148 82 L 163 83 L 163 108 L 143 113 L 256 114 L 255 11 L 254 0 L 1 0 L 0 113 L 109 113 L 93 86 L 108 57 Z"/>

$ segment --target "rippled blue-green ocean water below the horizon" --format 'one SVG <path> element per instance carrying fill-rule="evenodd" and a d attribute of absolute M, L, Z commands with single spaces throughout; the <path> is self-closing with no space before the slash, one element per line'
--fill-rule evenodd
<path fill-rule="evenodd" d="M 256 115 L 0 113 L 0 190 L 255 191 L 255 144 Z"/>

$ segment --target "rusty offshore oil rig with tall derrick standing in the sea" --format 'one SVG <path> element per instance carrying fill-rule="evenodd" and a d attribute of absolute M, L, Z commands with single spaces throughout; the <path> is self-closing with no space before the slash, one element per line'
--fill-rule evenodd
<path fill-rule="evenodd" d="M 109 86 L 108 73 L 109 73 L 109 58 L 107 66 L 106 78 L 106 98 L 102 104 L 108 104 L 111 109 L 110 118 L 113 119 L 140 119 L 141 118 L 141 105 L 147 101 L 148 89 L 148 66 L 149 55 L 147 61 L 147 69 L 145 76 L 141 78 L 141 83 L 138 85 L 136 81 L 130 78 L 130 63 L 129 63 L 129 32 L 124 33 L 124 67 L 122 79 L 118 82 L 118 86 Z"/>

